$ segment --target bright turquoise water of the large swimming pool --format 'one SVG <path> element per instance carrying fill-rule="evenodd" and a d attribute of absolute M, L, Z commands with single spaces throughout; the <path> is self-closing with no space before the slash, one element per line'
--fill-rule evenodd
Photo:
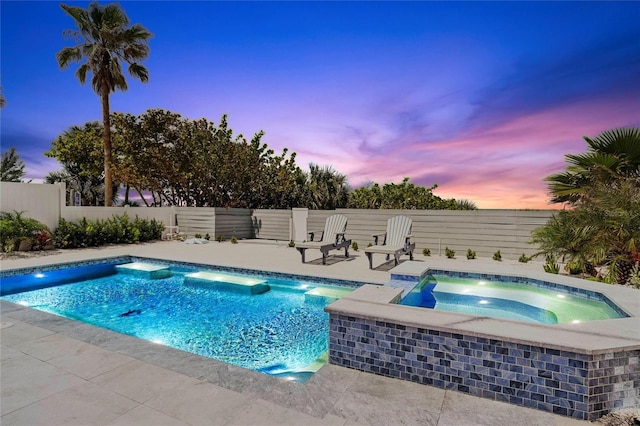
<path fill-rule="evenodd" d="M 2 299 L 303 381 L 324 363 L 328 349 L 324 307 L 353 290 L 178 267 L 165 269 L 155 278 L 144 268 L 140 274 L 117 270 L 115 265 L 110 268 L 100 266 L 101 277 L 7 294 Z M 256 284 L 259 291 L 245 288 L 256 288 Z"/>

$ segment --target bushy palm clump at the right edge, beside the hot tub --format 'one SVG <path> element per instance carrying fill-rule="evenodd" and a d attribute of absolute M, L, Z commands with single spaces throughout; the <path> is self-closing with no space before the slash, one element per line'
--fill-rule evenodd
<path fill-rule="evenodd" d="M 626 284 L 640 263 L 640 129 L 584 139 L 587 152 L 566 155 L 566 170 L 545 179 L 551 201 L 572 209 L 534 230 L 532 242 L 539 254 L 600 267 L 609 282 Z"/>

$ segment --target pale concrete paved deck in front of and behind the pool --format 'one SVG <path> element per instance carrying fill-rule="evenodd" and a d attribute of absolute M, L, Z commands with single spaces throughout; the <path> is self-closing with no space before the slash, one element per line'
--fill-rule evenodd
<path fill-rule="evenodd" d="M 177 241 L 65 251 L 1 262 L 2 270 L 135 255 L 292 274 L 386 283 L 362 251 L 349 258 L 287 242 Z M 541 264 L 423 258 L 433 267 L 521 274 Z M 470 263 L 473 262 L 473 263 Z M 325 365 L 289 382 L 7 302 L 0 304 L 3 425 L 580 425 L 538 410 Z"/>

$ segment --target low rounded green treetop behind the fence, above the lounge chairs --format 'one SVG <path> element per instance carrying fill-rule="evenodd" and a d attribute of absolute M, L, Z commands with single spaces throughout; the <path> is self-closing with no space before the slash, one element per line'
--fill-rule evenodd
<path fill-rule="evenodd" d="M 434 195 L 433 190 L 437 187 L 417 186 L 410 183 L 409 178 L 404 178 L 400 184 L 388 183 L 382 187 L 372 183 L 351 192 L 348 206 L 355 209 L 475 209 L 470 201 L 444 200 Z"/>

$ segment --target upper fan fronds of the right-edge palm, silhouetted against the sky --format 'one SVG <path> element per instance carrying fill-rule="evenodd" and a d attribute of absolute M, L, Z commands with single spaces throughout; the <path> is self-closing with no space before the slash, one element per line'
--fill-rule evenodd
<path fill-rule="evenodd" d="M 587 152 L 566 155 L 566 170 L 545 178 L 552 203 L 576 205 L 596 182 L 628 178 L 640 185 L 640 128 L 606 130 L 584 140 Z"/>

